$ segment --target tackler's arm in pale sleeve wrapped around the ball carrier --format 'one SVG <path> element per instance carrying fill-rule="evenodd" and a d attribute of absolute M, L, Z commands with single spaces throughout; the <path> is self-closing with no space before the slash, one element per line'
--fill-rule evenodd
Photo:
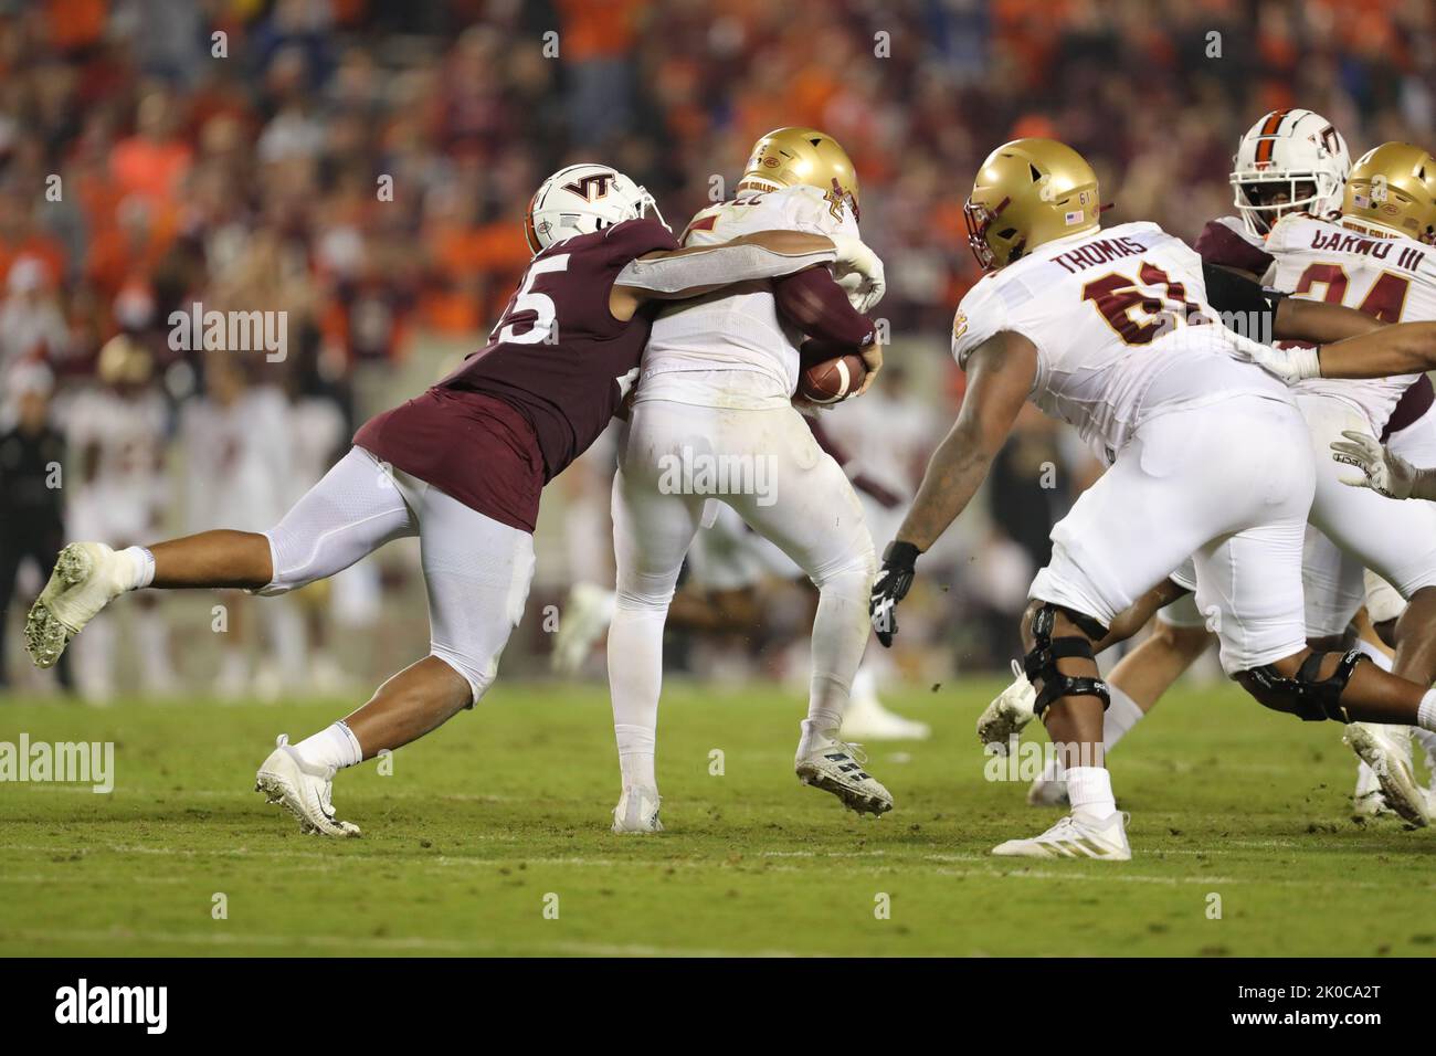
<path fill-rule="evenodd" d="M 629 261 L 613 282 L 609 310 L 616 319 L 632 319 L 645 300 L 698 297 L 829 263 L 882 280 L 882 261 L 857 238 L 755 231 L 717 246 L 659 250 Z"/>

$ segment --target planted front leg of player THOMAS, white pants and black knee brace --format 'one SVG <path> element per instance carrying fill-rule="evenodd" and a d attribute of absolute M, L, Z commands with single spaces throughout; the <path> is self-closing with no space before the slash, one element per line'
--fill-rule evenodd
<path fill-rule="evenodd" d="M 1301 647 L 1301 534 L 1313 487 L 1307 444 L 1300 415 L 1281 401 L 1244 398 L 1221 408 L 1159 415 L 1137 430 L 1053 529 L 1051 563 L 1028 592 L 1047 606 L 1025 628 L 1024 667 L 1037 688 L 1034 710 L 1043 714 L 1064 764 L 1073 813 L 1045 839 L 1015 840 L 1002 845 L 1001 853 L 1130 856 L 1126 836 L 1117 836 L 1124 823 L 1104 766 L 1103 711 L 1110 693 L 1097 677 L 1093 645 L 1109 635 L 1119 613 L 1188 556 L 1195 563 L 1198 605 L 1211 612 L 1215 599 L 1202 598 L 1203 563 L 1249 526 L 1275 523 L 1285 549 L 1278 562 L 1285 589 L 1275 601 L 1275 615 L 1285 619 L 1278 619 L 1277 629 L 1284 645 Z M 1261 458 L 1254 458 L 1254 450 Z M 1228 579 L 1245 579 L 1246 565 L 1241 570 L 1242 576 Z M 1264 593 L 1261 585 L 1246 589 L 1258 598 Z M 1235 635 L 1235 619 L 1222 622 Z"/>

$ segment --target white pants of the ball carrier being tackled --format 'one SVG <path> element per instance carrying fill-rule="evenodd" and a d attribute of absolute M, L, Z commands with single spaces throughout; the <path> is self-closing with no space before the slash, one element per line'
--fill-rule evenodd
<path fill-rule="evenodd" d="M 632 750 L 652 750 L 663 622 L 709 501 L 731 506 L 819 588 L 808 715 L 841 720 L 867 645 L 873 540 L 853 486 L 791 407 L 727 409 L 649 399 L 619 440 L 613 478 L 617 605 L 609 688 Z M 711 517 L 707 523 L 711 523 Z"/>

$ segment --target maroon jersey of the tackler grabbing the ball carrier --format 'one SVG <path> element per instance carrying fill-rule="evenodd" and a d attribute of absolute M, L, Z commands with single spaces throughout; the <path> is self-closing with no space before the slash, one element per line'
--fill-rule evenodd
<path fill-rule="evenodd" d="M 656 220 L 554 243 L 528 264 L 488 345 L 422 397 L 369 420 L 355 444 L 533 532 L 543 486 L 597 440 L 638 376 L 652 310 L 615 319 L 613 280 L 630 260 L 672 249 Z"/>

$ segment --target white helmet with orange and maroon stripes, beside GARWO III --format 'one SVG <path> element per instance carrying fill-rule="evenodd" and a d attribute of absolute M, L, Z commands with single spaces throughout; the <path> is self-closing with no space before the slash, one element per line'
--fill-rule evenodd
<path fill-rule="evenodd" d="M 1335 125 L 1298 108 L 1272 111 L 1246 129 L 1232 158 L 1234 204 L 1254 236 L 1282 213 L 1325 218 L 1341 208 L 1351 155 Z"/>

